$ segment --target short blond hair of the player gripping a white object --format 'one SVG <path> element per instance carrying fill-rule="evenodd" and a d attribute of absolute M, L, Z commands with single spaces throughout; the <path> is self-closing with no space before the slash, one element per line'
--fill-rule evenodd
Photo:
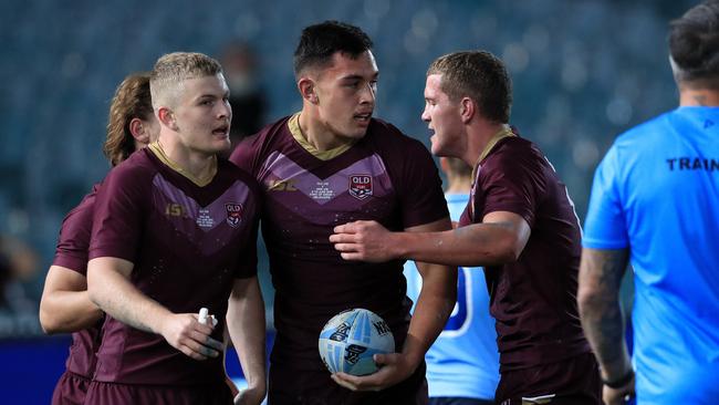
<path fill-rule="evenodd" d="M 153 107 L 174 105 L 183 82 L 189 79 L 215 76 L 222 66 L 215 59 L 197 52 L 173 52 L 160 56 L 149 76 Z"/>

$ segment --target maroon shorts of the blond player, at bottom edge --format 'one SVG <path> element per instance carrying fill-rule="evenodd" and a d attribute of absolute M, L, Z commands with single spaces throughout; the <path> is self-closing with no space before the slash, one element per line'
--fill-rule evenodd
<path fill-rule="evenodd" d="M 85 404 L 231 405 L 232 393 L 225 383 L 208 385 L 139 385 L 93 381 Z"/>

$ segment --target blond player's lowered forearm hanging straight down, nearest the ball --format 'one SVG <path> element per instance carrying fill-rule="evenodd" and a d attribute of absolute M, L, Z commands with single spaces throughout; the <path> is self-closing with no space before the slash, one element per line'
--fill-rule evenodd
<path fill-rule="evenodd" d="M 248 386 L 265 392 L 264 302 L 257 278 L 233 289 L 227 311 L 227 325 Z"/>

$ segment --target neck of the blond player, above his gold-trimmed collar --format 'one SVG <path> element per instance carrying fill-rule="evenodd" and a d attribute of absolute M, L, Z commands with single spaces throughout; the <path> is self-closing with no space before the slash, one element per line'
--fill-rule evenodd
<path fill-rule="evenodd" d="M 174 170 L 199 186 L 205 186 L 217 174 L 217 155 L 189 149 L 175 139 L 160 136 L 156 142 L 160 159 Z"/>

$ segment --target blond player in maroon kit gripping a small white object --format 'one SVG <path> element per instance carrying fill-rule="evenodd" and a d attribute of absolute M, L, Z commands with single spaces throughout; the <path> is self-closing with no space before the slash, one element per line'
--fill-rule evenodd
<path fill-rule="evenodd" d="M 85 404 L 232 403 L 225 313 L 254 393 L 247 403 L 259 404 L 259 189 L 217 158 L 232 115 L 222 70 L 200 53 L 170 53 L 155 64 L 150 91 L 158 141 L 115 167 L 95 199 L 87 290 L 107 319 Z M 198 320 L 204 307 L 217 328 Z"/>

